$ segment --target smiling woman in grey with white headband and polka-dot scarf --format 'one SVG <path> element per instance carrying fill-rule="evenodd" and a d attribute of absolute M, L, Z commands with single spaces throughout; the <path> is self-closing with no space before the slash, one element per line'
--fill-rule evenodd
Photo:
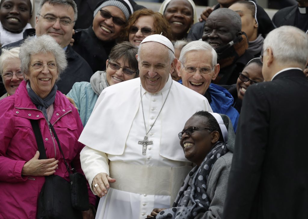
<path fill-rule="evenodd" d="M 155 208 L 147 218 L 221 218 L 235 138 L 229 117 L 196 112 L 179 138 L 185 157 L 196 166 L 186 176 L 172 208 Z"/>

